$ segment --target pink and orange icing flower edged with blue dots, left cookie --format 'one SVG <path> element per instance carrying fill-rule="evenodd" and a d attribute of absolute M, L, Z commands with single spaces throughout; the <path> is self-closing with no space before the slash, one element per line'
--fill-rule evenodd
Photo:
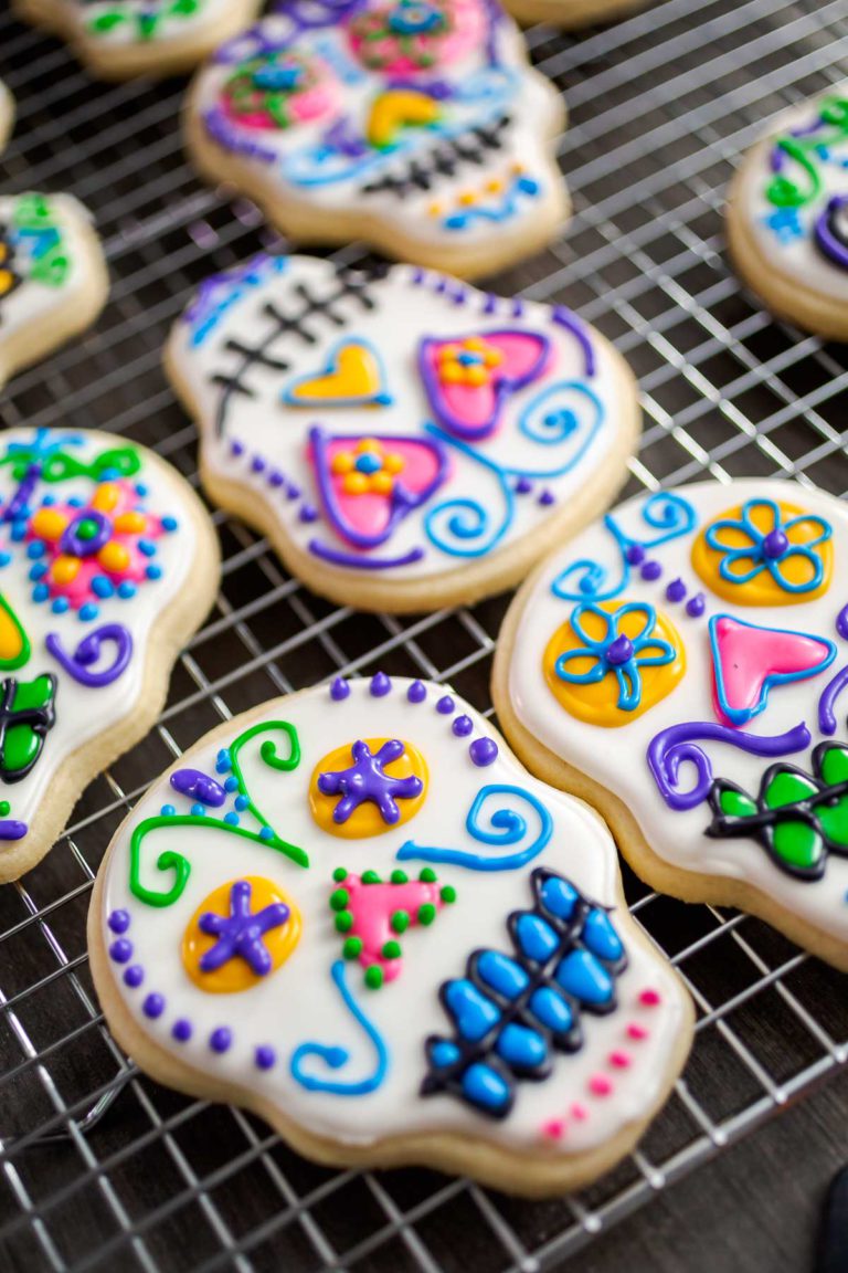
<path fill-rule="evenodd" d="M 33 600 L 51 597 L 55 610 L 88 610 L 84 617 L 94 617 L 98 600 L 127 600 L 145 579 L 159 578 L 155 540 L 175 528 L 173 517 L 146 512 L 123 480 L 102 481 L 86 505 L 42 504 L 27 526 Z"/>

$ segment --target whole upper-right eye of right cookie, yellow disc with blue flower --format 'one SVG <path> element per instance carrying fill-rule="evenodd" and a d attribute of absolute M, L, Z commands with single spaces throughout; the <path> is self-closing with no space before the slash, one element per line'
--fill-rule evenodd
<path fill-rule="evenodd" d="M 692 564 L 713 592 L 739 606 L 797 605 L 830 587 L 830 537 L 815 513 L 753 499 L 704 527 Z"/>

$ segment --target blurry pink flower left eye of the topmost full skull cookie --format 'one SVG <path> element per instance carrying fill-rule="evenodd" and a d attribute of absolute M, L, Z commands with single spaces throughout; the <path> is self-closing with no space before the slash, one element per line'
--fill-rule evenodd
<path fill-rule="evenodd" d="M 290 129 L 334 116 L 338 85 L 327 66 L 286 48 L 242 62 L 224 85 L 221 106 L 248 129 Z"/>

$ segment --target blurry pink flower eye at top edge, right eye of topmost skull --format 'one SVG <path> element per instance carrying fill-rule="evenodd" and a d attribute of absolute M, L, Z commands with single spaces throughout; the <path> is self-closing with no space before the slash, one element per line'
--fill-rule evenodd
<path fill-rule="evenodd" d="M 459 61 L 479 46 L 484 27 L 478 0 L 395 0 L 365 9 L 348 31 L 369 70 L 414 75 Z"/>

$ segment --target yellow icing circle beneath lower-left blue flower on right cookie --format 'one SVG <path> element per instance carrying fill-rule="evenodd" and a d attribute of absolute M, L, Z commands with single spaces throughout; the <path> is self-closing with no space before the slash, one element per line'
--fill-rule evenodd
<path fill-rule="evenodd" d="M 584 608 L 580 619 L 584 633 L 592 640 L 603 642 L 608 635 L 609 629 L 606 620 L 595 611 L 600 610 L 608 615 L 614 615 L 617 611 L 620 611 L 623 606 L 631 603 L 632 602 L 628 602 L 626 597 L 617 597 L 615 601 L 601 602 L 591 610 Z M 641 603 L 637 605 L 641 606 Z M 636 640 L 643 631 L 645 625 L 645 610 L 631 610 L 618 620 L 617 631 L 622 636 Z M 660 703 L 669 694 L 671 694 L 687 670 L 687 659 L 680 634 L 670 619 L 667 619 L 659 610 L 656 611 L 653 629 L 646 639 L 648 643 L 651 640 L 667 642 L 669 645 L 673 647 L 675 657 L 669 663 L 651 666 L 639 663 L 638 652 L 636 652 L 634 658 L 638 668 L 639 701 L 638 705 L 629 709 L 619 708 L 618 700 L 620 687 L 613 670 L 609 670 L 601 680 L 590 685 L 564 681 L 557 672 L 557 661 L 562 654 L 572 649 L 586 648 L 582 638 L 572 628 L 570 616 L 566 622 L 554 631 L 545 647 L 542 659 L 544 679 L 548 682 L 551 693 L 559 705 L 564 708 L 570 715 L 576 717 L 577 721 L 586 721 L 589 724 L 604 726 L 605 728 L 615 728 L 617 726 L 629 724 L 631 721 L 636 721 L 637 717 L 641 717 L 656 703 Z M 650 644 L 643 649 L 645 657 L 652 657 L 655 653 L 656 651 L 652 649 Z M 584 675 L 598 666 L 598 658 L 594 656 L 586 656 L 570 659 L 567 667 L 575 675 Z"/>

